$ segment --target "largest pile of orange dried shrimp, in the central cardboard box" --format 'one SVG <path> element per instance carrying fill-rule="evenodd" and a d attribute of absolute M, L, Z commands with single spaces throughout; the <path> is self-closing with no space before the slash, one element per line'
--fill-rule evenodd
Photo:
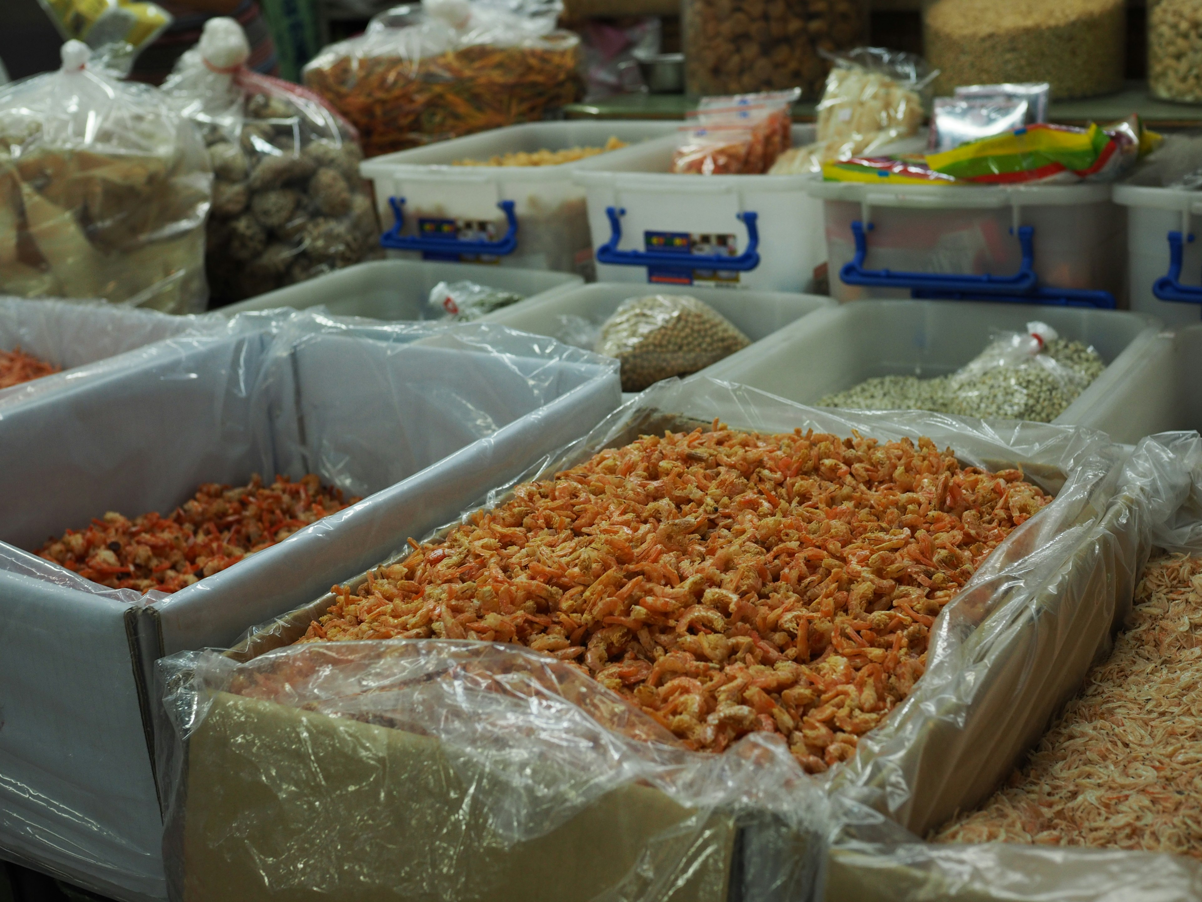
<path fill-rule="evenodd" d="M 690 748 L 764 730 L 810 772 L 922 675 L 935 615 L 1048 497 L 929 439 L 643 437 L 381 566 L 302 642 L 519 642 Z"/>

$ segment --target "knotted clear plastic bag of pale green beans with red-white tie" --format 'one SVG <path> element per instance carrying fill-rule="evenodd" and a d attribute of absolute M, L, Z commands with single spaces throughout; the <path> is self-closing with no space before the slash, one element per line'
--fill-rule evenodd
<path fill-rule="evenodd" d="M 1105 368 L 1081 342 L 1066 342 L 1046 322 L 1027 334 L 1004 332 L 948 378 L 947 413 L 1052 422 Z"/>

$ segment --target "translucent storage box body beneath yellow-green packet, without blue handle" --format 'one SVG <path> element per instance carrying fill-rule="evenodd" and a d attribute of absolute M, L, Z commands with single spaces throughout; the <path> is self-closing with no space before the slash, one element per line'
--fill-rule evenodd
<path fill-rule="evenodd" d="M 1109 185 L 886 186 L 809 183 L 822 202 L 831 295 L 844 301 L 910 297 L 905 287 L 849 285 L 853 221 L 871 222 L 864 267 L 903 273 L 1010 275 L 1022 254 L 1019 226 L 1031 226 L 1041 286 L 1111 292 L 1126 298 L 1124 209 Z M 1014 230 L 1013 232 L 1011 230 Z"/>

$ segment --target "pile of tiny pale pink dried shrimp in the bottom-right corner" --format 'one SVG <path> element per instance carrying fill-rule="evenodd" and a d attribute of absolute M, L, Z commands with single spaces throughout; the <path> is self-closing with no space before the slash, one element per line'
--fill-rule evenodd
<path fill-rule="evenodd" d="M 1114 652 L 1030 761 L 936 842 L 1202 859 L 1202 557 L 1153 562 Z"/>

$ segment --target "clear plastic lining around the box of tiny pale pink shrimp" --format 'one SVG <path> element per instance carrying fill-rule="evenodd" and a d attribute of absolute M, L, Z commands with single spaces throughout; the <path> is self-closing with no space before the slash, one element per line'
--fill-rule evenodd
<path fill-rule="evenodd" d="M 1076 588 L 1066 583 L 1055 593 L 1040 592 L 1035 604 L 1013 611 L 1016 624 L 1045 623 L 1045 642 L 1054 653 L 1037 654 L 1036 647 L 1014 641 L 1019 630 L 1010 637 L 993 630 L 957 643 L 953 624 L 944 622 L 934 652 L 940 663 L 928 667 L 906 705 L 873 737 L 875 760 L 857 758 L 858 772 L 849 769 L 850 779 L 832 796 L 834 842 L 825 894 L 829 902 L 1185 902 L 1202 895 L 1202 864 L 1183 856 L 1007 843 L 932 844 L 915 835 L 939 826 L 954 808 L 978 802 L 1039 738 L 1088 669 L 1109 652 L 1111 636 L 1126 616 L 1153 547 L 1202 552 L 1200 485 L 1197 433 L 1164 433 L 1139 443 L 1119 469 L 1118 491 L 1101 520 L 1073 552 L 1083 563 L 1095 560 L 1099 575 Z M 1022 669 L 1008 699 L 1017 717 L 982 704 L 990 682 L 984 665 L 992 658 L 993 670 L 1001 669 L 1001 654 L 1010 654 Z M 1058 666 L 1049 667 L 1051 663 Z M 928 682 L 939 673 L 942 677 Z M 988 717 L 998 719 L 998 728 L 982 724 Z M 993 730 L 1000 735 L 990 736 Z M 916 743 L 923 734 L 927 741 Z M 933 795 L 944 796 L 941 805 L 920 803 L 941 778 L 970 782 L 974 789 L 954 807 L 940 791 Z"/>

